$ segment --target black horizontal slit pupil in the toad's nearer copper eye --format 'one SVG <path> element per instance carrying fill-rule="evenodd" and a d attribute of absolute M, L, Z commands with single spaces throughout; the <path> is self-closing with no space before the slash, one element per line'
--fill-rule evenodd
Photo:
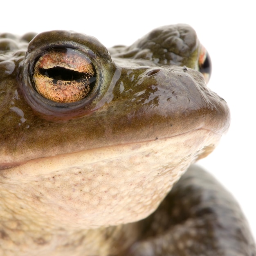
<path fill-rule="evenodd" d="M 81 73 L 75 70 L 68 70 L 64 67 L 53 67 L 49 69 L 41 68 L 40 73 L 49 78 L 63 81 L 74 81 L 88 75 L 86 73 Z"/>

